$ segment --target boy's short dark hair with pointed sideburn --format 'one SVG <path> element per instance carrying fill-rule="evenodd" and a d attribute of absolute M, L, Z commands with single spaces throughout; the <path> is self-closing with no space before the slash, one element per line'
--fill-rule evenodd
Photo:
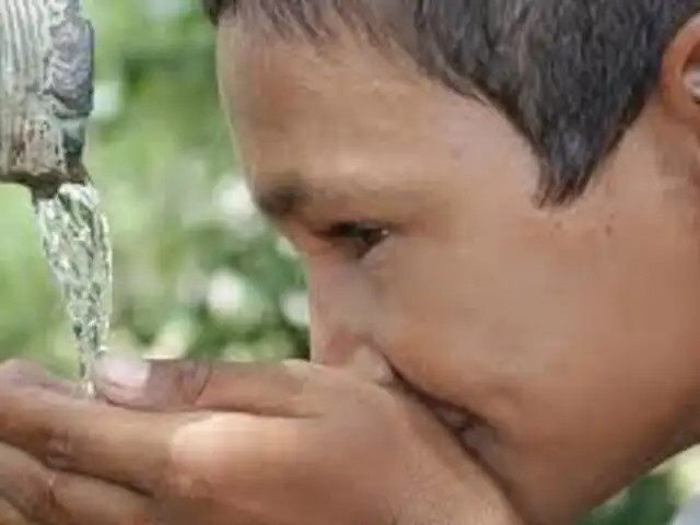
<path fill-rule="evenodd" d="M 540 159 L 550 202 L 584 190 L 655 88 L 666 45 L 700 11 L 700 0 L 203 1 L 214 23 L 240 11 L 281 35 L 327 34 L 328 14 L 366 22 L 425 74 L 500 108 Z"/>

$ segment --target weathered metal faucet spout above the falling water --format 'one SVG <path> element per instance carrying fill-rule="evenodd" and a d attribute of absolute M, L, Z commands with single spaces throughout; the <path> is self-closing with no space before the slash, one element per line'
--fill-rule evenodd
<path fill-rule="evenodd" d="M 93 47 L 80 0 L 0 0 L 0 183 L 89 183 Z"/>

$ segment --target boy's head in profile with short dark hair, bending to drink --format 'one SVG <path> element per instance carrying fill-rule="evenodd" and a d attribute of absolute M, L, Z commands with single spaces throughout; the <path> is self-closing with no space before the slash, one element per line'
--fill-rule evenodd
<path fill-rule="evenodd" d="M 700 0 L 206 3 L 316 360 L 555 523 L 700 438 Z"/>

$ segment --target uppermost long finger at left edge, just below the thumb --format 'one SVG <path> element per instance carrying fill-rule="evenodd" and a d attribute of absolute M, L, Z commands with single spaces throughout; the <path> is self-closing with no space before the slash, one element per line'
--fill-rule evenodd
<path fill-rule="evenodd" d="M 173 415 L 132 412 L 31 388 L 0 387 L 0 442 L 62 470 L 109 479 L 145 492 L 168 465 Z"/>

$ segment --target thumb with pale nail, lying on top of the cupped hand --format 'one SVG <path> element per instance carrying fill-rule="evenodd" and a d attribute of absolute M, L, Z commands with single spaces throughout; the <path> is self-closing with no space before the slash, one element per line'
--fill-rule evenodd
<path fill-rule="evenodd" d="M 97 392 L 109 402 L 143 410 L 235 410 L 265 416 L 311 412 L 320 381 L 303 361 L 232 363 L 143 360 L 106 353 L 95 363 Z"/>

